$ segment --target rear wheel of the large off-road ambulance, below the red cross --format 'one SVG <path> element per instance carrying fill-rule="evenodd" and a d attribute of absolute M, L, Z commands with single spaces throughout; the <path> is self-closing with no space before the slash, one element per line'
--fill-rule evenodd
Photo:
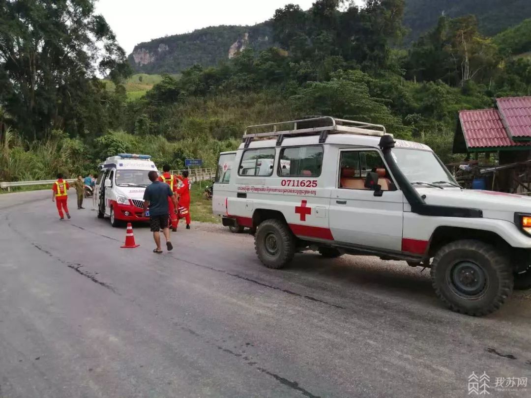
<path fill-rule="evenodd" d="M 295 239 L 285 222 L 269 219 L 258 226 L 254 248 L 263 265 L 278 270 L 292 261 Z"/>

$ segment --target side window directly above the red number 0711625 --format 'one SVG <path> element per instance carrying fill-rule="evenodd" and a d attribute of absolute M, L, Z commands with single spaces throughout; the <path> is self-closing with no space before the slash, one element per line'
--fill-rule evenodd
<path fill-rule="evenodd" d="M 280 152 L 280 177 L 319 177 L 323 166 L 323 147 L 298 146 Z"/>

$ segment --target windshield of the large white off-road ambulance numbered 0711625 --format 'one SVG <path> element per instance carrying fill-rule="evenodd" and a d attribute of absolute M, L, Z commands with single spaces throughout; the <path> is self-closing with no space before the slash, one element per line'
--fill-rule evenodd
<path fill-rule="evenodd" d="M 450 172 L 441 165 L 433 152 L 395 148 L 391 154 L 410 183 L 418 181 L 443 183 L 449 181 L 455 184 Z"/>

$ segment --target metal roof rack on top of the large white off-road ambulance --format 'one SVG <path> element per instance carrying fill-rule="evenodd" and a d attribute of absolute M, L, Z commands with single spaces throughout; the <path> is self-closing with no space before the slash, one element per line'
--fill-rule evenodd
<path fill-rule="evenodd" d="M 286 129 L 286 127 L 288 127 Z M 270 130 L 261 133 L 251 133 L 252 131 Z M 381 137 L 386 135 L 386 128 L 380 124 L 356 122 L 355 120 L 336 119 L 330 116 L 316 116 L 299 120 L 289 120 L 288 122 L 259 124 L 245 128 L 243 141 L 245 148 L 249 147 L 252 140 L 256 138 L 277 138 L 277 146 L 282 143 L 284 137 L 297 135 L 320 134 L 319 143 L 326 142 L 328 134 L 358 134 L 373 135 Z"/>

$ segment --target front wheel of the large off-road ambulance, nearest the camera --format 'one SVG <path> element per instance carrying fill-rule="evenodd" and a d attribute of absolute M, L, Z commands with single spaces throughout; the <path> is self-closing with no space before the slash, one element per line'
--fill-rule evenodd
<path fill-rule="evenodd" d="M 511 295 L 509 259 L 494 246 L 478 240 L 457 240 L 439 249 L 431 269 L 436 295 L 452 311 L 487 315 Z"/>

